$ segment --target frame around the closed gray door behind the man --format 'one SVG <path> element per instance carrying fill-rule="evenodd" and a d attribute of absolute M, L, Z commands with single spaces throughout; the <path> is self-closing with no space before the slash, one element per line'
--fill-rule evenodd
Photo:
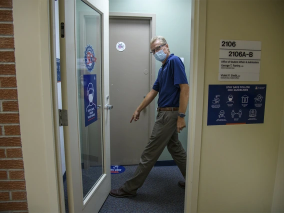
<path fill-rule="evenodd" d="M 150 37 L 156 35 L 156 14 L 155 13 L 136 13 L 136 12 L 109 12 L 109 19 L 142 19 L 142 20 L 150 20 Z M 149 48 L 150 49 L 150 48 Z M 152 86 L 156 80 L 156 72 L 155 72 L 155 59 L 153 59 L 152 55 L 149 54 L 150 58 L 150 86 L 149 91 L 152 89 Z M 155 102 L 151 102 L 149 104 L 150 113 L 149 113 L 149 137 L 151 136 L 152 129 L 154 127 L 154 117 L 155 117 Z"/>

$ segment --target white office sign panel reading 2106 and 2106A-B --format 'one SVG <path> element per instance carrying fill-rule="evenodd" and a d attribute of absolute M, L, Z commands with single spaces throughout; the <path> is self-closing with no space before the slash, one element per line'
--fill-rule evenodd
<path fill-rule="evenodd" d="M 258 81 L 261 41 L 220 40 L 219 81 Z"/>

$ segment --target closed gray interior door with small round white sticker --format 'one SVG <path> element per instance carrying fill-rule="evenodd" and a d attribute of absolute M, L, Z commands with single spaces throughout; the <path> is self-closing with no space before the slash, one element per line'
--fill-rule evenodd
<path fill-rule="evenodd" d="M 150 108 L 130 123 L 134 110 L 150 90 L 150 20 L 109 19 L 109 95 L 111 164 L 138 164 L 149 139 Z M 118 51 L 116 44 L 125 43 Z"/>

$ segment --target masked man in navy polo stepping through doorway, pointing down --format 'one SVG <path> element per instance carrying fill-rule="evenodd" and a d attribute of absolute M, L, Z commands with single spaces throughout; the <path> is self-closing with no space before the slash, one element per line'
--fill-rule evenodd
<path fill-rule="evenodd" d="M 178 133 L 185 128 L 185 111 L 189 96 L 189 87 L 184 65 L 179 57 L 170 54 L 168 44 L 163 36 L 154 36 L 150 41 L 150 49 L 156 60 L 162 62 L 152 90 L 134 111 L 132 120 L 139 119 L 140 112 L 158 97 L 158 114 L 149 142 L 146 145 L 133 177 L 118 189 L 112 189 L 110 195 L 115 197 L 133 196 L 154 166 L 164 147 L 176 162 L 185 178 L 186 152 L 178 140 Z M 178 185 L 185 188 L 184 181 Z"/>

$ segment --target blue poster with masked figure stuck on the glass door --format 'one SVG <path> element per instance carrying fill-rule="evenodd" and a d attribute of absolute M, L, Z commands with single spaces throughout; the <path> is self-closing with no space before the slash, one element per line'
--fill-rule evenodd
<path fill-rule="evenodd" d="M 96 74 L 84 74 L 85 126 L 97 120 Z"/>

